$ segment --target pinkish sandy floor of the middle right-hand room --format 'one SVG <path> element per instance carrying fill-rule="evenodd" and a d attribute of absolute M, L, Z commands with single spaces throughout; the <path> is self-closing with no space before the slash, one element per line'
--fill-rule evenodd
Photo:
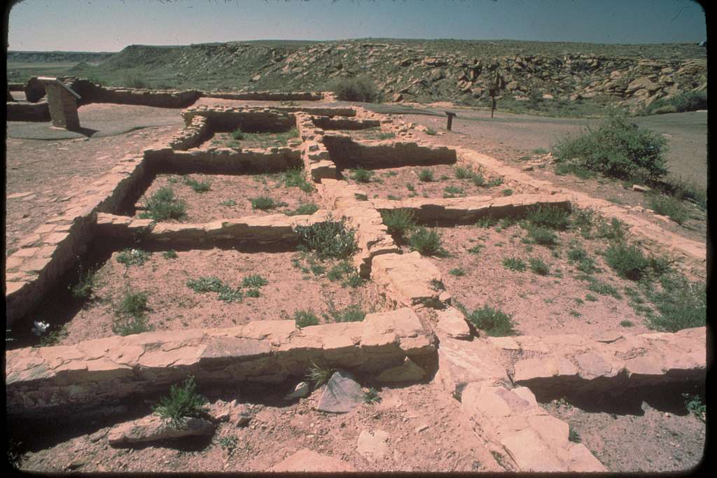
<path fill-rule="evenodd" d="M 443 197 L 463 197 L 463 196 L 499 196 L 501 191 L 511 189 L 513 193 L 518 193 L 518 187 L 500 184 L 498 186 L 488 186 L 488 183 L 497 176 L 483 172 L 485 178 L 485 186 L 475 186 L 475 183 L 469 178 L 458 179 L 455 177 L 456 166 L 466 166 L 462 163 L 439 164 L 436 166 L 404 166 L 402 168 L 385 168 L 371 171 L 371 181 L 368 183 L 359 183 L 353 179 L 353 170 L 342 171 L 343 178 L 351 184 L 359 184 L 369 198 L 379 199 L 408 199 L 411 197 L 426 198 L 443 198 Z M 419 173 L 421 171 L 431 171 L 433 181 L 421 181 Z M 473 171 L 478 172 L 474 169 Z M 409 190 L 409 185 L 414 191 Z M 445 188 L 462 189 L 462 193 L 450 193 Z"/>

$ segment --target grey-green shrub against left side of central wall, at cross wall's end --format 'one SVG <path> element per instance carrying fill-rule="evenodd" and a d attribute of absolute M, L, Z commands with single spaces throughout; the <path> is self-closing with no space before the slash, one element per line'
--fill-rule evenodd
<path fill-rule="evenodd" d="M 327 218 L 326 222 L 296 226 L 295 231 L 301 247 L 315 252 L 320 259 L 347 259 L 358 249 L 353 229 L 346 229 L 343 221 Z"/>

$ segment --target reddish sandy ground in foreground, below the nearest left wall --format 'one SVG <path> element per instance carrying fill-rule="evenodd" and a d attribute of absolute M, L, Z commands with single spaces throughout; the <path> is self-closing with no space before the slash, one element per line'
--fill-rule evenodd
<path fill-rule="evenodd" d="M 75 423 L 63 429 L 62 436 L 45 436 L 44 443 L 25 455 L 24 469 L 62 472 L 72 465 L 80 472 L 262 472 L 295 451 L 308 448 L 341 458 L 360 472 L 501 470 L 475 438 L 460 403 L 431 385 L 377 387 L 379 403 L 361 405 L 348 414 L 313 409 L 320 391 L 298 403 L 286 403 L 280 398 L 286 391 L 252 388 L 253 393 L 242 390 L 239 399 L 249 403 L 254 414 L 250 426 L 220 425 L 212 441 L 113 449 L 104 439 L 111 424 Z M 222 398 L 237 398 L 237 391 L 229 391 Z M 148 404 L 143 408 L 149 412 Z M 369 461 L 358 453 L 363 430 L 389 433 L 384 459 Z M 237 440 L 232 453 L 219 444 L 229 436 Z M 33 441 L 37 442 L 37 437 Z"/>

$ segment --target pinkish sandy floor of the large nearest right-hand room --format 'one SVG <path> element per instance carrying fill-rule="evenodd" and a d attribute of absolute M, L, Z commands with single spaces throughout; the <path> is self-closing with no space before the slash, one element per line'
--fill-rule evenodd
<path fill-rule="evenodd" d="M 570 231 L 559 232 L 561 245 L 554 249 L 559 257 L 554 257 L 551 249 L 540 245 L 532 245 L 532 252 L 527 252 L 526 244 L 521 242 L 526 231 L 518 225 L 502 231 L 476 226 L 440 227 L 437 231 L 442 234 L 443 247 L 450 257 L 432 260 L 453 300 L 465 305 L 469 311 L 490 305 L 513 315 L 518 335 L 649 331 L 624 294 L 626 286 L 635 288 L 635 284 L 617 277 L 596 254 L 597 249 L 607 244 L 587 241 Z M 602 268 L 602 272 L 594 277 L 615 287 L 622 299 L 591 292 L 589 282 L 575 279 L 581 272 L 567 259 L 571 241 L 580 244 Z M 480 252 L 468 252 L 476 246 L 480 247 Z M 404 246 L 404 250 L 409 248 Z M 523 260 L 526 270 L 505 269 L 503 259 L 511 257 Z M 531 272 L 528 261 L 533 257 L 549 265 L 549 275 Z M 451 274 L 455 269 L 462 269 L 465 275 Z M 586 299 L 588 295 L 594 300 Z M 630 320 L 633 325 L 625 328 L 619 323 L 623 320 Z"/>

